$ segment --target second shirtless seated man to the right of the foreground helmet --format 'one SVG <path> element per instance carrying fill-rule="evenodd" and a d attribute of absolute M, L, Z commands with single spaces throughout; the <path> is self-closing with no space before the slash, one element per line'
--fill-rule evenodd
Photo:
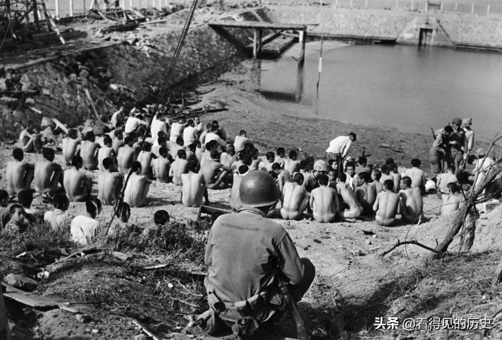
<path fill-rule="evenodd" d="M 339 208 L 338 194 L 333 188 L 328 188 L 328 177 L 319 176 L 319 188 L 312 190 L 310 196 L 310 207 L 314 215 L 314 220 L 320 223 L 331 223 L 336 218 Z"/>

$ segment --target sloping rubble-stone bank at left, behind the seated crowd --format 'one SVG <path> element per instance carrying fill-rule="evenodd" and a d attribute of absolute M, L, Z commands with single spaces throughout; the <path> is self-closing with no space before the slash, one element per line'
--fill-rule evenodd
<path fill-rule="evenodd" d="M 233 33 L 242 40 L 252 35 L 244 30 Z M 154 102 L 180 34 L 180 30 L 167 27 L 155 35 L 139 31 L 122 44 L 50 57 L 14 69 L 0 67 L 0 136 L 16 137 L 29 120 L 40 122 L 43 116 L 58 118 L 69 126 L 94 118 L 85 89 L 98 114 L 104 116 L 122 105 Z M 193 27 L 167 95 L 174 97 L 213 79 L 243 58 L 206 25 Z"/>

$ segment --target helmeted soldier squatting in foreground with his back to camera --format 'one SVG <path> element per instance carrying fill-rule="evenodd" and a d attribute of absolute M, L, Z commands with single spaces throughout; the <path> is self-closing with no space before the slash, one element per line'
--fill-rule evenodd
<path fill-rule="evenodd" d="M 248 173 L 239 197 L 242 208 L 218 217 L 208 236 L 204 284 L 210 308 L 198 324 L 209 334 L 228 327 L 235 334 L 253 334 L 285 311 L 279 276 L 295 303 L 315 276 L 314 265 L 300 258 L 286 230 L 266 218 L 280 198 L 274 179 L 264 171 Z"/>

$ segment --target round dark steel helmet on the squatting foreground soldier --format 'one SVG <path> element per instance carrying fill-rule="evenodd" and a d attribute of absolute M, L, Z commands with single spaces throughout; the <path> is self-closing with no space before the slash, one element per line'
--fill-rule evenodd
<path fill-rule="evenodd" d="M 242 206 L 266 207 L 279 201 L 280 193 L 276 182 L 265 171 L 253 171 L 242 178 L 239 186 Z"/>

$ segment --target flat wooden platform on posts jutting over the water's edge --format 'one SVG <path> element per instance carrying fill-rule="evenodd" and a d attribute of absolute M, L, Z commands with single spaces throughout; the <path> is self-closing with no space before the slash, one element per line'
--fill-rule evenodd
<path fill-rule="evenodd" d="M 319 24 L 280 24 L 280 23 L 268 23 L 268 22 L 256 22 L 256 21 L 216 21 L 208 24 L 218 35 L 226 39 L 228 42 L 233 44 L 238 49 L 249 52 L 253 51 L 254 58 L 260 58 L 264 52 L 264 46 L 269 42 L 273 41 L 275 38 L 279 37 L 284 31 L 293 31 L 294 34 L 288 34 L 293 36 L 288 44 L 284 44 L 282 48 L 272 51 L 272 53 L 281 54 L 286 48 L 288 48 L 292 43 L 298 41 L 301 43 L 300 58 L 298 59 L 298 65 L 303 65 L 305 61 L 305 40 L 307 38 L 307 27 L 317 26 Z M 251 29 L 254 31 L 254 39 L 252 45 L 246 45 L 232 34 L 230 34 L 226 29 Z M 265 38 L 263 37 L 264 30 L 273 31 Z M 298 36 L 297 36 L 298 35 Z M 265 51 L 270 52 L 271 51 Z"/>

